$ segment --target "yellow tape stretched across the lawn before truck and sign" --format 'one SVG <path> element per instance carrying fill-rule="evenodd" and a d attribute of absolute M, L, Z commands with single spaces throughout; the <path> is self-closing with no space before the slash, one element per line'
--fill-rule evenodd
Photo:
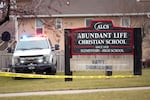
<path fill-rule="evenodd" d="M 65 76 L 65 75 L 39 75 L 22 74 L 11 72 L 0 72 L 2 77 L 21 77 L 21 78 L 76 78 L 76 79 L 107 79 L 107 78 L 133 78 L 134 75 L 113 75 L 113 76 Z"/>

